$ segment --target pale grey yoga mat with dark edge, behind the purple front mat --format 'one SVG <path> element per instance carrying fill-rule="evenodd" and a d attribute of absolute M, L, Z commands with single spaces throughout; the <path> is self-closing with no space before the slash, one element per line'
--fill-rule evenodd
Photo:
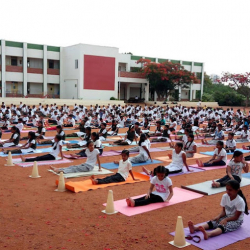
<path fill-rule="evenodd" d="M 219 179 L 219 178 L 217 178 Z M 217 180 L 215 179 L 215 180 Z M 190 186 L 181 186 L 184 189 L 190 190 L 190 191 L 194 191 L 200 194 L 204 194 L 204 195 L 213 195 L 213 194 L 218 194 L 218 193 L 222 193 L 222 192 L 226 192 L 226 187 L 219 187 L 219 188 L 212 188 L 212 181 L 205 181 L 205 182 L 201 182 L 198 184 L 194 184 L 194 185 L 190 185 Z M 242 178 L 240 186 L 244 187 L 244 186 L 248 186 L 250 185 L 250 179 L 249 178 Z"/>

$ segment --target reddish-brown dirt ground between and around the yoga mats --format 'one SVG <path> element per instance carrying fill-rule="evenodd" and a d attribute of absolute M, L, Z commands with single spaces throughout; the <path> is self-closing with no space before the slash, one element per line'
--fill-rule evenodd
<path fill-rule="evenodd" d="M 69 133 L 71 131 L 66 131 Z M 47 136 L 55 132 L 47 132 Z M 3 139 L 9 138 L 4 134 Z M 152 147 L 166 144 L 153 144 Z M 123 149 L 124 147 L 118 147 Z M 117 149 L 118 149 L 117 148 Z M 213 148 L 198 148 L 208 151 Z M 105 148 L 110 150 L 110 148 Z M 153 158 L 164 156 L 167 151 L 152 153 Z M 14 158 L 16 158 L 15 156 Z M 101 157 L 101 163 L 120 159 L 120 156 Z M 74 164 L 85 160 L 74 160 Z M 222 194 L 204 196 L 163 209 L 136 216 L 123 214 L 106 215 L 101 211 L 107 200 L 108 190 L 113 190 L 114 200 L 124 199 L 147 192 L 149 182 L 102 188 L 82 193 L 70 191 L 54 192 L 58 179 L 47 171 L 48 166 L 39 166 L 42 178 L 31 179 L 32 167 L 4 166 L 5 158 L 0 157 L 0 249 L 176 249 L 168 242 L 169 234 L 175 230 L 177 216 L 183 217 L 184 226 L 188 220 L 195 223 L 210 220 L 220 211 Z M 189 160 L 189 164 L 194 160 Z M 62 164 L 62 167 L 70 164 Z M 153 169 L 157 164 L 149 165 Z M 141 167 L 133 167 L 141 172 Z M 115 172 L 115 171 L 114 171 Z M 191 185 L 217 179 L 225 169 L 192 173 L 171 177 L 174 187 Z M 101 176 L 103 177 L 103 176 Z M 72 181 L 85 178 L 70 179 Z M 66 180 L 67 181 L 67 180 Z M 242 188 L 249 202 L 250 186 Z M 250 204 L 250 203 L 249 203 Z M 249 249 L 250 239 L 237 242 L 224 249 Z M 188 249 L 196 249 L 188 246 Z M 212 249 L 211 249 L 212 250 Z"/>

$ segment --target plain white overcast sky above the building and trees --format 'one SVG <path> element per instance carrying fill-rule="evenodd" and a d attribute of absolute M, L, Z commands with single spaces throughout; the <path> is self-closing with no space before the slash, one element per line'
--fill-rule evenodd
<path fill-rule="evenodd" d="M 204 62 L 207 74 L 250 72 L 249 0 L 8 0 L 0 38 Z"/>

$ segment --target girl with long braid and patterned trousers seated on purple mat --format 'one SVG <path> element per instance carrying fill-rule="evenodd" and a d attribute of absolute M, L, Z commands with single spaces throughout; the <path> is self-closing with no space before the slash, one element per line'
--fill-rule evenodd
<path fill-rule="evenodd" d="M 238 181 L 230 180 L 226 183 L 226 194 L 221 199 L 222 210 L 213 220 L 201 225 L 195 226 L 192 221 L 188 222 L 191 234 L 201 231 L 204 239 L 218 236 L 222 233 L 233 232 L 243 224 L 244 212 L 248 213 L 246 198 L 243 195 Z M 209 230 L 209 231 L 207 231 Z"/>

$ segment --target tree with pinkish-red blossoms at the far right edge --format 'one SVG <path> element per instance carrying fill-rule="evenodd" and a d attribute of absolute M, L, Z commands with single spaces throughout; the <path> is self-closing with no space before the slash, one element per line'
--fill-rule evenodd
<path fill-rule="evenodd" d="M 220 83 L 226 83 L 231 88 L 235 89 L 239 94 L 246 97 L 246 106 L 249 104 L 250 99 L 250 73 L 232 74 L 229 72 L 223 73 Z"/>

